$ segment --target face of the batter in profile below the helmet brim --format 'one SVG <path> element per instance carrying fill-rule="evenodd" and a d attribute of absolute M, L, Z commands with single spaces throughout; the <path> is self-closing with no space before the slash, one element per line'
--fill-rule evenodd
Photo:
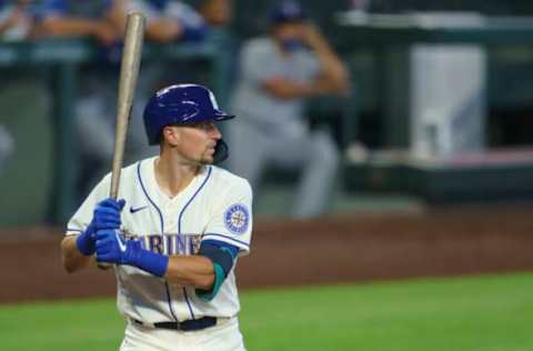
<path fill-rule="evenodd" d="M 222 134 L 212 121 L 173 128 L 178 133 L 175 149 L 183 159 L 193 163 L 213 163 L 214 147 Z"/>

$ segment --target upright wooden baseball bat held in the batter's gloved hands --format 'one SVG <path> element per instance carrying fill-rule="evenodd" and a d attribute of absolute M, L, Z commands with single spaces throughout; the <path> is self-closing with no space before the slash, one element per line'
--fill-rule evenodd
<path fill-rule="evenodd" d="M 135 96 L 137 78 L 142 57 L 142 41 L 144 37 L 144 16 L 140 12 L 129 13 L 125 19 L 124 48 L 120 64 L 119 98 L 117 101 L 117 132 L 114 136 L 113 164 L 111 169 L 110 198 L 115 199 L 119 194 L 120 173 L 124 158 L 125 137 L 131 118 L 131 108 Z M 108 269 L 111 264 L 98 263 L 101 269 Z"/>

